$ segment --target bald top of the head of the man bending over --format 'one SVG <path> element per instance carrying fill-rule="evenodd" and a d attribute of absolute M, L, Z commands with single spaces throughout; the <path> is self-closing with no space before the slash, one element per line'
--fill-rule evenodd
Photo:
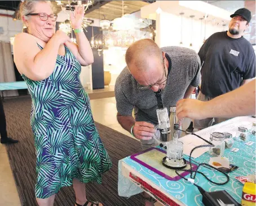
<path fill-rule="evenodd" d="M 138 71 L 147 71 L 149 69 L 149 59 L 157 62 L 162 61 L 162 52 L 151 39 L 141 39 L 134 42 L 125 54 L 126 65 L 130 71 L 131 68 L 136 68 Z"/>

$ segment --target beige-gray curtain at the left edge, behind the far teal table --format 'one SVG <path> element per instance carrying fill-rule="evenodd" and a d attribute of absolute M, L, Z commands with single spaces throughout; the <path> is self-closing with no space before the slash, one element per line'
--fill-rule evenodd
<path fill-rule="evenodd" d="M 0 83 L 11 81 L 16 81 L 11 44 L 8 42 L 0 42 Z M 3 92 L 3 95 L 5 97 L 13 97 L 19 94 L 17 93 L 17 90 L 7 90 Z"/>

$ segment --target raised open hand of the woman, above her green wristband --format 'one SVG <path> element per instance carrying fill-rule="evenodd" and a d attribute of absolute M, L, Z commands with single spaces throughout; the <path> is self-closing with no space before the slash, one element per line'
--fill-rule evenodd
<path fill-rule="evenodd" d="M 85 5 L 76 6 L 73 12 L 70 12 L 70 24 L 73 29 L 81 29 L 83 16 L 85 15 Z"/>

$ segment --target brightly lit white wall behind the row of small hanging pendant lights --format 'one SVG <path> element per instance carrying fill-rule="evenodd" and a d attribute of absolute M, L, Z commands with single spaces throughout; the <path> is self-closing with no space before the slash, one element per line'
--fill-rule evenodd
<path fill-rule="evenodd" d="M 181 40 L 180 29 L 181 16 L 176 16 L 166 12 L 161 12 L 159 15 L 157 15 L 156 43 L 158 44 L 158 46 L 179 46 Z M 193 18 L 193 30 L 191 30 L 191 18 L 183 17 L 182 46 L 189 48 L 189 44 L 192 43 L 192 49 L 198 52 L 205 37 L 207 39 L 211 34 L 222 30 L 223 26 L 218 26 L 217 24 L 214 24 L 214 22 L 207 20 L 205 35 L 205 20 L 202 20 L 201 27 L 201 21 Z"/>

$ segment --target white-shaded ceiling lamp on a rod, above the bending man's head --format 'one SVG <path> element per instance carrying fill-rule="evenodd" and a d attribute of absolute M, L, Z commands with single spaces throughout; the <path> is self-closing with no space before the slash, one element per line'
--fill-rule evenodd
<path fill-rule="evenodd" d="M 113 20 L 113 30 L 127 31 L 134 29 L 134 22 L 128 18 L 129 15 L 123 15 L 123 1 L 122 1 L 122 17 Z"/>

